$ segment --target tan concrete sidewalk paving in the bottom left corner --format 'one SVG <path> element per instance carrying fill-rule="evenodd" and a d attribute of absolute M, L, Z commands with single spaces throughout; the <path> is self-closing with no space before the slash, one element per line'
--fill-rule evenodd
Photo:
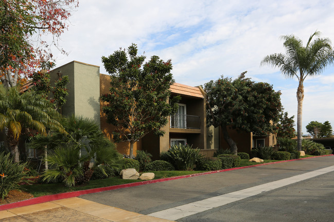
<path fill-rule="evenodd" d="M 98 204 L 94 201 L 72 197 L 49 201 L 43 204 L 0 211 L 0 221 L 168 222 L 171 220 L 133 213 L 119 208 Z"/>

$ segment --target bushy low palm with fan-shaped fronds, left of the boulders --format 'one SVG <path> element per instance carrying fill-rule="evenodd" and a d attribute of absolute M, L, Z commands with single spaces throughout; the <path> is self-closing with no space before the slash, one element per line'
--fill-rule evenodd
<path fill-rule="evenodd" d="M 42 149 L 48 146 L 54 152 L 48 154 L 47 161 L 52 166 L 44 172 L 44 180 L 63 180 L 65 186 L 72 187 L 89 181 L 93 171 L 109 165 L 118 169 L 121 165 L 120 154 L 115 145 L 105 137 L 93 119 L 71 115 L 61 121 L 67 134 L 52 132 L 47 135 L 34 136 L 30 148 Z M 90 162 L 93 160 L 91 168 Z"/>

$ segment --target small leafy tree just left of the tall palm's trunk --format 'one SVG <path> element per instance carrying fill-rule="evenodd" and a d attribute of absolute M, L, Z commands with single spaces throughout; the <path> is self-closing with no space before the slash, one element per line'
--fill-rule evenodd
<path fill-rule="evenodd" d="M 295 137 L 294 130 L 294 116 L 289 117 L 288 112 L 283 112 L 280 114 L 279 122 L 276 125 L 277 137 L 289 138 Z"/>

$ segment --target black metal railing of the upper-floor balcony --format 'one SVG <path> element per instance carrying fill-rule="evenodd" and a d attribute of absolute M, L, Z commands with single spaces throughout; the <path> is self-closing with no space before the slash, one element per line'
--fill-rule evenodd
<path fill-rule="evenodd" d="M 170 117 L 170 128 L 201 129 L 199 116 L 175 114 Z"/>

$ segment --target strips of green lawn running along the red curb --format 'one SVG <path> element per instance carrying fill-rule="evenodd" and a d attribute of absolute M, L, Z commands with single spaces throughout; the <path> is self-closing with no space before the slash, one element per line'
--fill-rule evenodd
<path fill-rule="evenodd" d="M 310 156 L 312 155 L 306 155 L 304 157 L 310 157 Z M 271 163 L 271 162 L 277 162 L 277 161 L 280 161 L 280 160 L 265 159 L 263 163 Z M 248 159 L 241 159 L 240 167 L 257 165 L 257 164 L 262 164 L 262 163 L 249 162 Z M 155 171 L 154 179 L 196 174 L 196 173 L 202 173 L 202 172 L 205 172 L 205 171 Z M 49 195 L 49 194 L 65 193 L 65 192 L 71 192 L 71 191 L 77 191 L 77 190 L 87 190 L 87 189 L 93 189 L 93 188 L 99 188 L 99 187 L 129 184 L 129 183 L 135 183 L 138 181 L 143 181 L 143 180 L 138 180 L 138 179 L 129 180 L 129 179 L 121 179 L 119 177 L 111 177 L 107 179 L 91 180 L 89 184 L 87 185 L 77 186 L 77 187 L 72 187 L 72 188 L 65 187 L 61 183 L 60 184 L 23 185 L 22 188 L 25 191 L 31 193 L 34 197 L 38 197 L 38 196 L 44 196 L 44 195 Z"/>

